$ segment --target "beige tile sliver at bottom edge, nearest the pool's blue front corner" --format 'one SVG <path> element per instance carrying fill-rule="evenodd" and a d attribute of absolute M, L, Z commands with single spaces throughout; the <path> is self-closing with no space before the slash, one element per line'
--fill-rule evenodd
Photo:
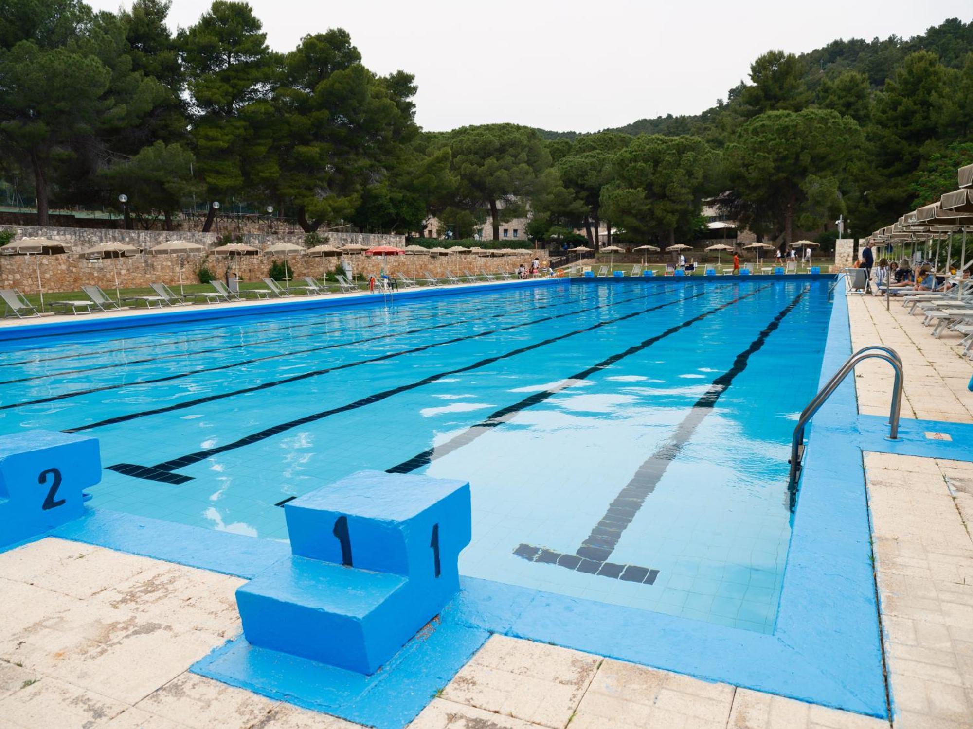
<path fill-rule="evenodd" d="M 888 729 L 872 716 L 839 712 L 782 696 L 738 688 L 729 729 Z"/>

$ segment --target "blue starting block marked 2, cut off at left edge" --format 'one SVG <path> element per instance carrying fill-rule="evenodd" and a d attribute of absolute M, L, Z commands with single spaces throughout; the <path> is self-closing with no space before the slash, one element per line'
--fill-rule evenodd
<path fill-rule="evenodd" d="M 0 437 L 0 547 L 81 516 L 101 480 L 97 438 L 57 431 Z"/>

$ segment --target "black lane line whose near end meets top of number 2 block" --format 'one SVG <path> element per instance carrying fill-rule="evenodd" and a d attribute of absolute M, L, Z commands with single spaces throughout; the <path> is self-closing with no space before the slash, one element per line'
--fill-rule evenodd
<path fill-rule="evenodd" d="M 577 309 L 575 311 L 568 311 L 568 312 L 564 312 L 563 314 L 553 314 L 551 316 L 542 317 L 540 319 L 533 319 L 533 320 L 531 320 L 529 322 L 520 322 L 518 324 L 512 324 L 512 325 L 510 325 L 508 327 L 498 327 L 495 330 L 477 331 L 477 332 L 472 333 L 472 334 L 464 334 L 463 336 L 455 336 L 455 337 L 453 337 L 451 339 L 445 339 L 445 340 L 439 341 L 439 342 L 430 342 L 428 344 L 422 344 L 422 345 L 419 345 L 417 347 L 412 347 L 411 349 L 399 350 L 398 352 L 388 352 L 388 353 L 386 353 L 384 355 L 379 355 L 378 357 L 373 357 L 373 358 L 367 359 L 367 360 L 357 360 L 357 361 L 354 361 L 354 362 L 348 362 L 348 363 L 344 363 L 344 364 L 335 364 L 334 366 L 331 366 L 331 367 L 323 367 L 321 369 L 312 369 L 312 370 L 307 371 L 307 372 L 302 372 L 301 374 L 291 375 L 290 377 L 284 377 L 284 378 L 279 379 L 279 380 L 270 380 L 270 382 L 262 382 L 259 385 L 252 385 L 250 387 L 240 388 L 239 390 L 231 390 L 230 392 L 218 393 L 216 395 L 207 395 L 207 396 L 205 396 L 203 398 L 183 400 L 181 402 L 176 402 L 176 403 L 171 404 L 171 405 L 165 405 L 164 407 L 157 407 L 157 408 L 154 408 L 154 409 L 151 409 L 151 410 L 140 410 L 139 412 L 128 413 L 126 415 L 117 415 L 117 416 L 115 416 L 113 418 L 108 418 L 106 420 L 100 420 L 100 421 L 97 421 L 95 423 L 89 423 L 89 424 L 84 425 L 84 426 L 78 426 L 77 428 L 68 428 L 68 429 L 64 430 L 64 433 L 79 433 L 81 431 L 89 431 L 92 428 L 101 428 L 102 426 L 106 426 L 106 425 L 115 425 L 117 423 L 125 423 L 126 421 L 134 420 L 136 418 L 144 418 L 144 417 L 148 417 L 150 415 L 159 415 L 160 413 L 163 413 L 163 412 L 172 412 L 174 410 L 183 410 L 183 409 L 185 409 L 187 407 L 193 407 L 194 405 L 203 404 L 205 402 L 213 402 L 213 401 L 218 400 L 218 399 L 234 398 L 234 397 L 239 396 L 239 395 L 247 395 L 249 393 L 259 392 L 261 390 L 270 390 L 270 388 L 277 387 L 278 385 L 286 385 L 286 384 L 289 384 L 291 382 L 299 382 L 301 380 L 306 380 L 306 379 L 309 379 L 311 377 L 319 377 L 319 376 L 324 375 L 324 374 L 329 374 L 331 372 L 338 372 L 338 371 L 341 371 L 343 369 L 350 369 L 351 367 L 357 367 L 357 366 L 361 366 L 363 364 L 375 364 L 377 362 L 385 362 L 387 360 L 393 360 L 393 359 L 395 359 L 397 357 L 404 357 L 406 355 L 413 355 L 413 354 L 416 354 L 417 352 L 425 352 L 426 350 L 433 349 L 435 347 L 442 347 L 442 346 L 445 346 L 447 344 L 455 344 L 457 342 L 467 341 L 469 339 L 478 339 L 478 338 L 480 338 L 482 336 L 488 336 L 489 334 L 495 334 L 495 333 L 497 333 L 499 331 L 517 330 L 517 329 L 521 329 L 522 327 L 530 327 L 530 326 L 535 325 L 535 324 L 543 324 L 544 322 L 550 322 L 550 321 L 553 321 L 555 319 L 563 319 L 564 317 L 577 316 L 578 314 L 583 314 L 583 313 L 585 313 L 587 311 L 594 311 L 595 309 L 603 309 L 606 306 L 612 306 L 613 304 L 627 303 L 629 301 L 634 301 L 634 300 L 641 299 L 641 298 L 647 298 L 649 296 L 654 296 L 654 295 L 658 295 L 658 294 L 649 294 L 649 295 L 645 295 L 645 296 L 631 296 L 630 298 L 623 298 L 623 299 L 620 299 L 619 301 L 615 301 L 615 302 L 607 302 L 607 303 L 602 303 L 602 304 L 596 304 L 595 306 L 589 306 L 589 307 L 584 308 L 584 309 Z M 542 307 L 537 307 L 537 308 L 542 308 Z M 486 317 L 486 318 L 489 318 L 489 317 Z M 429 328 L 429 329 L 437 329 L 437 328 L 436 327 L 432 327 L 432 328 Z M 375 338 L 378 339 L 378 337 L 375 337 Z M 207 371 L 212 371 L 214 369 L 226 369 L 228 366 L 229 365 L 221 365 L 219 367 L 212 367 L 212 368 L 210 368 L 210 370 L 207 370 Z M 176 376 L 177 375 L 169 375 L 167 377 L 159 378 L 159 379 L 156 379 L 156 380 L 143 380 L 142 382 L 132 383 L 132 384 L 144 385 L 144 384 L 148 384 L 148 383 L 152 383 L 152 382 L 159 382 L 159 381 L 162 381 L 162 380 L 175 379 Z M 104 389 L 111 389 L 111 388 L 104 388 Z M 59 399 L 59 397 L 58 396 L 54 396 L 51 399 Z M 40 401 L 40 400 L 38 400 L 38 401 Z M 20 404 L 32 404 L 32 403 L 20 403 Z M 0 406 L 0 410 L 2 410 L 2 409 L 6 409 L 6 407 L 5 406 Z"/>

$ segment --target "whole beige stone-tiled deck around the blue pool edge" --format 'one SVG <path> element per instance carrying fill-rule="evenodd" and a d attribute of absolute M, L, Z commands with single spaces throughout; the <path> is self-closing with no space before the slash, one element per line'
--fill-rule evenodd
<path fill-rule="evenodd" d="M 188 308 L 188 307 L 187 307 Z M 893 301 L 848 296 L 852 343 L 903 359 L 903 417 L 973 423 L 973 365 Z M 856 372 L 887 413 L 890 368 Z M 973 458 L 973 454 L 971 454 Z M 891 725 L 973 727 L 973 463 L 865 453 Z M 244 580 L 45 538 L 0 554 L 0 726 L 353 727 L 189 672 L 239 633 Z M 493 636 L 411 726 L 877 729 L 883 719 Z"/>

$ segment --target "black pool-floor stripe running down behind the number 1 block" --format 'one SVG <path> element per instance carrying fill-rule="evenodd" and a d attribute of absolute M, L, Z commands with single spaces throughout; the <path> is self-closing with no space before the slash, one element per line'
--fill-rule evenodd
<path fill-rule="evenodd" d="M 670 336 L 679 330 L 683 330 L 687 327 L 691 327 L 697 322 L 705 319 L 710 314 L 715 314 L 718 311 L 722 311 L 723 309 L 737 303 L 741 299 L 747 298 L 752 295 L 756 295 L 758 292 L 763 291 L 766 288 L 767 286 L 763 286 L 760 289 L 755 289 L 750 294 L 740 295 L 737 298 L 733 299 L 732 301 L 728 301 L 725 304 L 720 304 L 715 309 L 709 309 L 708 311 L 704 311 L 702 314 L 698 314 L 692 319 L 687 319 L 682 324 L 677 324 L 673 327 L 669 327 L 661 334 L 656 334 L 655 336 L 651 336 L 648 339 L 645 339 L 644 341 L 640 342 L 639 344 L 634 344 L 622 352 L 618 352 L 614 355 L 611 355 L 610 357 L 605 358 L 598 364 L 594 364 L 588 367 L 587 369 L 582 369 L 580 372 L 573 374 L 570 377 L 564 378 L 555 387 L 548 388 L 547 390 L 542 390 L 539 393 L 533 393 L 532 395 L 527 396 L 526 398 L 520 400 L 519 402 L 515 402 L 512 405 L 507 405 L 506 407 L 503 407 L 497 410 L 496 412 L 488 415 L 486 419 L 484 419 L 477 425 L 472 426 L 467 430 L 463 431 L 463 433 L 450 438 L 450 440 L 448 440 L 447 442 L 442 443 L 441 445 L 434 446 L 427 450 L 424 450 L 421 453 L 413 456 L 408 461 L 404 461 L 398 466 L 393 466 L 391 469 L 386 469 L 385 472 L 386 473 L 411 473 L 415 469 L 419 469 L 423 466 L 428 466 L 433 461 L 443 458 L 444 456 L 448 456 L 450 453 L 452 453 L 455 450 L 458 450 L 459 448 L 462 448 L 464 445 L 469 445 L 481 435 L 486 434 L 491 428 L 496 428 L 501 423 L 507 422 L 522 410 L 528 407 L 532 407 L 533 405 L 536 405 L 539 402 L 543 402 L 544 400 L 552 397 L 553 395 L 556 395 L 564 388 L 570 387 L 572 384 L 574 384 L 579 380 L 587 379 L 588 377 L 595 374 L 595 372 L 597 372 L 599 369 L 603 369 L 612 364 L 616 364 L 617 362 L 621 361 L 626 357 L 630 357 L 633 354 L 641 352 L 642 350 L 651 347 L 653 344 L 660 341 L 661 339 L 665 339 L 667 336 Z"/>

